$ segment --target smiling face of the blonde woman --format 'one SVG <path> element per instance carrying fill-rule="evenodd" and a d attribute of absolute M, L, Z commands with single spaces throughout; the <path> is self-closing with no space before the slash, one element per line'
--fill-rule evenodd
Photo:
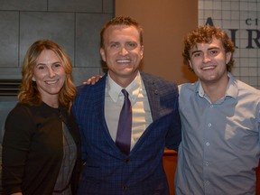
<path fill-rule="evenodd" d="M 42 101 L 48 103 L 58 100 L 65 79 L 66 72 L 59 56 L 54 51 L 43 50 L 36 60 L 32 74 Z"/>

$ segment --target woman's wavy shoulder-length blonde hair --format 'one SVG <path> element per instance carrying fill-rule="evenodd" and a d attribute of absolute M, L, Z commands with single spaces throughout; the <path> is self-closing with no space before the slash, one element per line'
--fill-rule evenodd
<path fill-rule="evenodd" d="M 41 94 L 37 88 L 36 82 L 32 81 L 33 68 L 36 60 L 44 50 L 54 51 L 60 58 L 63 68 L 66 72 L 66 79 L 63 87 L 60 89 L 60 105 L 70 111 L 72 101 L 76 96 L 76 87 L 72 82 L 72 63 L 68 54 L 60 46 L 50 40 L 40 40 L 34 42 L 26 52 L 22 68 L 22 84 L 18 93 L 18 101 L 22 104 L 37 106 L 42 103 Z"/>

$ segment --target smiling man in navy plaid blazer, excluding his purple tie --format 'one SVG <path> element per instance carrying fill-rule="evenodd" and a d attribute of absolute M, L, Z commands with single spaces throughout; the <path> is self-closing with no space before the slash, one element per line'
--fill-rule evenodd
<path fill-rule="evenodd" d="M 168 195 L 163 151 L 165 146 L 177 150 L 181 142 L 178 88 L 138 70 L 144 52 L 143 30 L 132 18 L 112 19 L 100 38 L 107 74 L 96 85 L 79 87 L 72 107 L 86 161 L 79 194 Z M 116 145 L 122 88 L 132 107 L 129 153 Z"/>

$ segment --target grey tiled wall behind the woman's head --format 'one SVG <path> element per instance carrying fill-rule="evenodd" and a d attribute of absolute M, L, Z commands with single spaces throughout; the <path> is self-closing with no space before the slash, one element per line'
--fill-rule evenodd
<path fill-rule="evenodd" d="M 114 0 L 0 0 L 0 79 L 21 79 L 25 52 L 39 39 L 68 52 L 77 85 L 102 74 L 99 30 L 114 7 Z"/>

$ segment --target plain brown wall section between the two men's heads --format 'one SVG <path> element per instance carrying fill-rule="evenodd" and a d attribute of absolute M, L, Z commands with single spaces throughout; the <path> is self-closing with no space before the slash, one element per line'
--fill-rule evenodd
<path fill-rule="evenodd" d="M 116 15 L 130 15 L 144 27 L 144 71 L 177 84 L 196 80 L 181 51 L 183 36 L 198 25 L 198 0 L 116 0 Z"/>

